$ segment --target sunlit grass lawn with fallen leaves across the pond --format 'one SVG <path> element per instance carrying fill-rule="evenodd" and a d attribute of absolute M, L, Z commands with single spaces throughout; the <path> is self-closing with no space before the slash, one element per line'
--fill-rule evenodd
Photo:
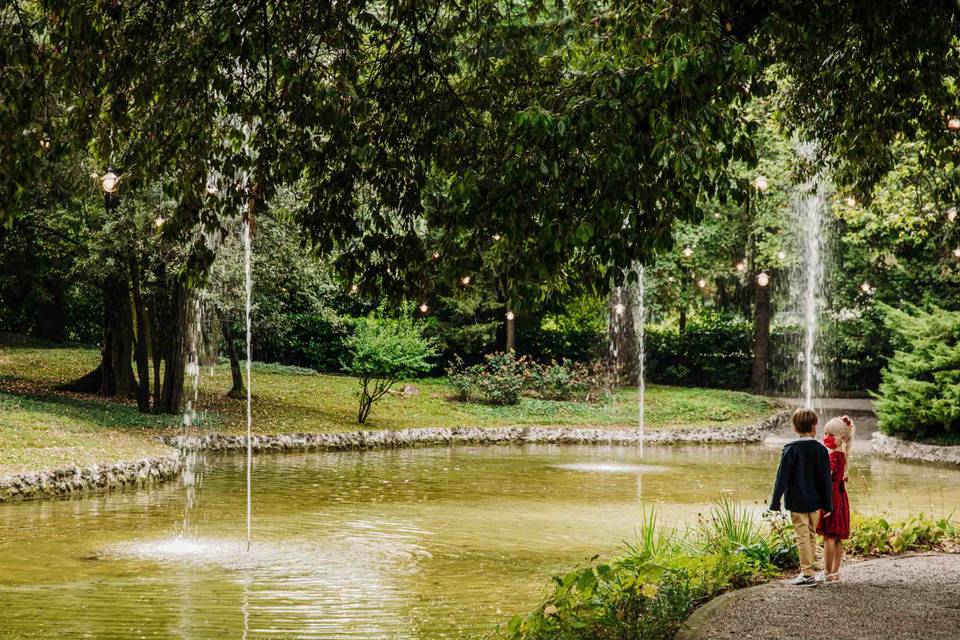
<path fill-rule="evenodd" d="M 54 391 L 96 366 L 99 353 L 77 347 L 48 348 L 15 336 L 0 336 L 0 475 L 14 469 L 131 459 L 154 454 L 150 437 L 179 429 L 177 416 L 151 416 L 135 403 Z M 394 394 L 374 405 L 364 428 L 500 427 L 511 425 L 632 428 L 637 392 L 625 389 L 604 404 L 524 398 L 518 406 L 495 407 L 449 400 L 441 379 L 413 382 L 416 393 Z M 223 433 L 245 429 L 245 404 L 226 397 L 226 365 L 204 368 L 197 406 L 205 428 Z M 402 387 L 402 385 L 398 385 Z M 305 374 L 276 365 L 254 365 L 253 422 L 258 433 L 352 431 L 356 424 L 356 380 Z M 746 393 L 651 386 L 646 423 L 650 429 L 741 425 L 770 415 L 773 401 Z"/>

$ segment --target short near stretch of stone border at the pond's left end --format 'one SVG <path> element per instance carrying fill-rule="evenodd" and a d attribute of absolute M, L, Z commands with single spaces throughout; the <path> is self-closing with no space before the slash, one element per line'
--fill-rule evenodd
<path fill-rule="evenodd" d="M 38 498 L 85 496 L 97 491 L 159 485 L 180 474 L 179 452 L 132 462 L 75 464 L 0 477 L 0 503 Z"/>

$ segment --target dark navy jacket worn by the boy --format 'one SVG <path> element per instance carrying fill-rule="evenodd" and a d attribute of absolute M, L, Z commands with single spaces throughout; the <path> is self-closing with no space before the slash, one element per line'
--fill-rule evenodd
<path fill-rule="evenodd" d="M 780 510 L 780 498 L 784 494 L 788 511 L 833 511 L 830 454 L 815 439 L 799 438 L 784 445 L 770 500 L 773 511 Z"/>

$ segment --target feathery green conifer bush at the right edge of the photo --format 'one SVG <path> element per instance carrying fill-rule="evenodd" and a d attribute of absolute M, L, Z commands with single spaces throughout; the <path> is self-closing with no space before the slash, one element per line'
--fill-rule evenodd
<path fill-rule="evenodd" d="M 960 312 L 878 306 L 898 346 L 876 394 L 880 428 L 919 438 L 960 432 Z"/>

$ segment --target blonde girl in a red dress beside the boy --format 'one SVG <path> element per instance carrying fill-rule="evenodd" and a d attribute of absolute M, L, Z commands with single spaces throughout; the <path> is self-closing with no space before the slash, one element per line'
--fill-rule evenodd
<path fill-rule="evenodd" d="M 817 533 L 823 536 L 823 573 L 826 582 L 839 582 L 843 541 L 850 537 L 850 500 L 847 498 L 847 454 L 856 427 L 848 416 L 834 418 L 824 428 L 823 444 L 830 450 L 833 511 L 820 514 Z"/>

